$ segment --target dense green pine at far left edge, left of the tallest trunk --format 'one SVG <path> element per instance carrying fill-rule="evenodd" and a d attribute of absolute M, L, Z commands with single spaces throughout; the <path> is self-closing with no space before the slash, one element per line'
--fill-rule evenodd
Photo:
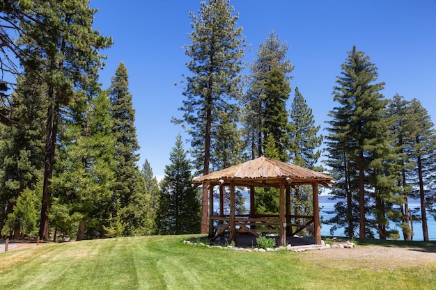
<path fill-rule="evenodd" d="M 25 72 L 19 79 L 9 99 L 8 120 L 12 122 L 1 130 L 0 231 L 22 191 L 34 189 L 42 177 L 44 131 L 40 124 L 44 122 L 47 102 L 38 82 L 29 86 L 32 79 L 35 80 L 33 72 Z"/>

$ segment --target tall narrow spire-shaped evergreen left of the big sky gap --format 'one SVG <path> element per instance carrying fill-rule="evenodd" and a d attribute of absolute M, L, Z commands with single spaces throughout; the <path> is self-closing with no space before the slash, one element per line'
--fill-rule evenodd
<path fill-rule="evenodd" d="M 121 62 L 112 77 L 109 87 L 109 97 L 111 99 L 111 116 L 114 122 L 112 135 L 116 140 L 115 160 L 117 163 L 116 184 L 114 185 L 114 202 L 119 207 L 119 213 L 123 213 L 123 221 L 127 223 L 127 235 L 142 228 L 142 223 L 135 213 L 134 200 L 139 195 L 145 194 L 141 190 L 141 172 L 137 166 L 139 161 L 139 150 L 137 140 L 137 129 L 134 127 L 134 108 L 132 104 L 132 94 L 129 92 L 129 81 L 127 69 Z"/>

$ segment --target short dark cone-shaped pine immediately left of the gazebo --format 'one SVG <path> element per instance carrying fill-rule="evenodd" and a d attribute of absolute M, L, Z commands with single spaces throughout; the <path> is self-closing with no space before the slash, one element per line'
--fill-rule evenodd
<path fill-rule="evenodd" d="M 200 202 L 196 188 L 192 188 L 192 175 L 182 137 L 170 153 L 171 163 L 165 166 L 162 180 L 157 229 L 159 234 L 194 234 L 200 230 Z"/>

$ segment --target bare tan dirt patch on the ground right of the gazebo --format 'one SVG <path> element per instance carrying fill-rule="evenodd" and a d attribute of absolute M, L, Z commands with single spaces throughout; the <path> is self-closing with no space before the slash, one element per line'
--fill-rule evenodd
<path fill-rule="evenodd" d="M 317 264 L 346 264 L 365 268 L 436 268 L 435 248 L 403 248 L 380 245 L 357 245 L 356 248 L 330 248 L 302 252 L 303 259 Z M 353 264 L 353 261 L 357 262 Z M 353 266 L 354 267 L 354 266 Z"/>

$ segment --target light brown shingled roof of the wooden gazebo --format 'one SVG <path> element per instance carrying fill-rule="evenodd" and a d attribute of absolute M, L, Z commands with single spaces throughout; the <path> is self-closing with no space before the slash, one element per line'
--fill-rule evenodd
<path fill-rule="evenodd" d="M 233 180 L 236 186 L 271 186 L 279 187 L 280 180 L 286 179 L 295 185 L 318 182 L 324 186 L 334 184 L 332 177 L 291 163 L 281 162 L 260 156 L 209 175 L 194 178 L 194 185 L 203 183 L 211 185 L 226 184 Z"/>

